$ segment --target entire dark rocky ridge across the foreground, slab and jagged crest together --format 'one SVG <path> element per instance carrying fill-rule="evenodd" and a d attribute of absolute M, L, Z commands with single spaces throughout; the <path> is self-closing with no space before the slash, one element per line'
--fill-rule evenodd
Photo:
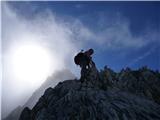
<path fill-rule="evenodd" d="M 32 109 L 22 111 L 19 120 L 160 119 L 158 72 L 126 69 L 115 73 L 105 68 L 95 78 L 88 76 L 83 83 L 66 80 L 46 89 Z"/>

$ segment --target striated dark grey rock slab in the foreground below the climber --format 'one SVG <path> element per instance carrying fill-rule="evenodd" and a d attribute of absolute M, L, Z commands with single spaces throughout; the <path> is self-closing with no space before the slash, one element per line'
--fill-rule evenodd
<path fill-rule="evenodd" d="M 27 119 L 20 120 L 160 119 L 160 105 L 151 100 L 114 89 L 80 87 L 79 81 L 68 80 L 48 88 L 31 111 L 22 112 L 21 118 Z"/>

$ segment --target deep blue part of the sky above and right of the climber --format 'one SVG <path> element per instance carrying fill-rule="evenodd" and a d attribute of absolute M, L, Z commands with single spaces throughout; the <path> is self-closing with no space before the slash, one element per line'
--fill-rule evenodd
<path fill-rule="evenodd" d="M 106 39 L 108 39 L 107 28 L 117 29 L 117 33 L 113 34 L 111 39 L 117 39 L 119 36 L 113 37 L 117 34 L 123 37 L 118 42 L 114 41 L 113 45 L 112 40 L 106 40 L 108 42 L 101 43 L 103 45 L 97 45 L 97 42 L 94 42 L 96 40 L 88 40 L 82 48 L 95 49 L 93 59 L 99 69 L 104 65 L 114 70 L 127 66 L 139 68 L 144 65 L 152 69 L 160 69 L 160 38 L 158 36 L 160 2 L 12 2 L 11 6 L 26 19 L 32 19 L 46 9 L 59 21 L 72 22 L 76 19 L 93 34 L 98 34 L 96 36 L 101 36 L 102 31 L 102 36 Z M 121 31 L 122 27 L 124 31 Z M 124 44 L 123 42 L 127 40 L 122 39 L 132 39 L 128 40 L 127 44 L 133 42 L 137 45 Z M 108 44 L 111 45 L 108 46 Z"/>

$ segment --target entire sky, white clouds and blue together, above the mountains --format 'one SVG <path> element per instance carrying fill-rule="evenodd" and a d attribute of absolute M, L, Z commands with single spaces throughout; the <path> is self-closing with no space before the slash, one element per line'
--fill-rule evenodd
<path fill-rule="evenodd" d="M 4 114 L 17 105 L 11 102 L 24 104 L 54 71 L 67 68 L 79 76 L 80 68 L 73 58 L 82 49 L 94 49 L 93 60 L 99 70 L 105 65 L 115 71 L 142 66 L 160 70 L 159 13 L 160 2 L 151 1 L 2 2 Z M 40 46 L 37 50 L 50 56 L 49 67 L 45 68 L 49 72 L 45 71 L 41 82 L 35 82 L 36 86 L 30 85 L 33 78 L 27 77 L 31 81 L 26 82 L 26 74 L 17 80 L 11 64 L 14 51 L 28 44 Z M 40 69 L 47 64 L 42 66 Z"/>

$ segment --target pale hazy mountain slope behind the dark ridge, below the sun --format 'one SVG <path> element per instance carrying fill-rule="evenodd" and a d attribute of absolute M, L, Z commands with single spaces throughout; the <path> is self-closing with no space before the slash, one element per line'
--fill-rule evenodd
<path fill-rule="evenodd" d="M 45 89 L 54 87 L 58 82 L 62 82 L 67 79 L 75 79 L 75 76 L 67 69 L 55 72 L 32 94 L 29 100 L 23 105 L 15 108 L 6 118 L 3 120 L 18 120 L 20 113 L 25 107 L 32 108 L 38 99 L 43 95 Z"/>

